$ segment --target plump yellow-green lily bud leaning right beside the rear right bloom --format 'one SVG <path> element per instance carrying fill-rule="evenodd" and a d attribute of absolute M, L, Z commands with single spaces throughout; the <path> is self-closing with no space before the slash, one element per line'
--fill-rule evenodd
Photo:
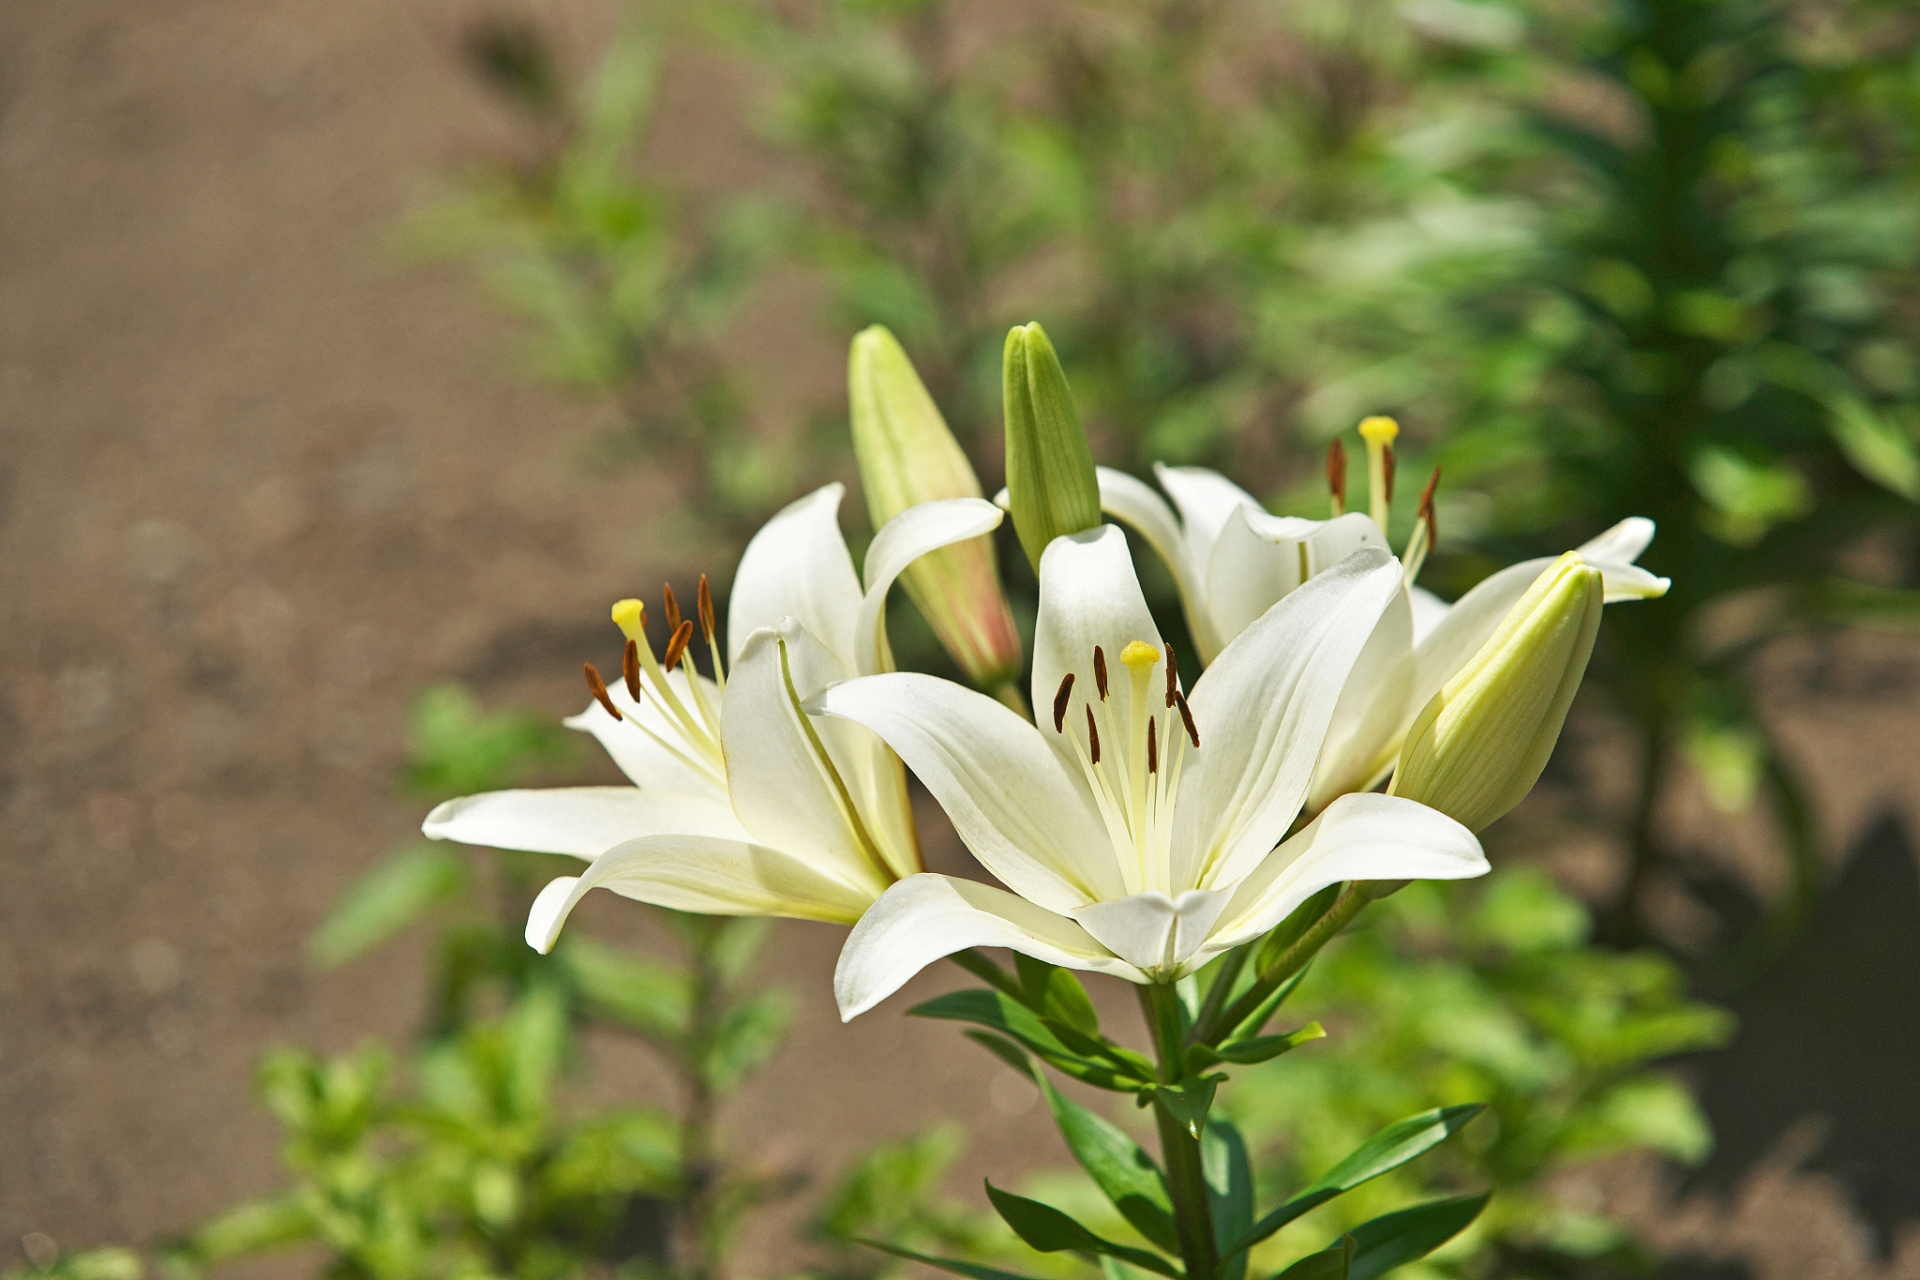
<path fill-rule="evenodd" d="M 1605 581 L 1569 551 L 1407 729 L 1392 794 L 1471 831 L 1519 804 L 1553 754 L 1599 633 Z"/>

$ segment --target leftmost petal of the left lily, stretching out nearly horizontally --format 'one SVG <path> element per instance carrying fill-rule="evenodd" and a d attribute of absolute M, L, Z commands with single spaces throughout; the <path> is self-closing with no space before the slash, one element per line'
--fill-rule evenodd
<path fill-rule="evenodd" d="M 637 787 L 549 787 L 461 796 L 436 806 L 420 823 L 420 833 L 430 841 L 574 858 L 599 858 L 641 835 L 747 839 L 724 800 Z"/>

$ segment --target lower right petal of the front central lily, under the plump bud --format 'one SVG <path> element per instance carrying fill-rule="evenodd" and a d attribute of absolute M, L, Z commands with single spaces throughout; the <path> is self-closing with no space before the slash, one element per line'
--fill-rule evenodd
<path fill-rule="evenodd" d="M 1480 841 L 1446 814 L 1400 796 L 1346 794 L 1240 881 L 1187 967 L 1258 938 L 1327 885 L 1463 881 L 1488 869 Z"/>

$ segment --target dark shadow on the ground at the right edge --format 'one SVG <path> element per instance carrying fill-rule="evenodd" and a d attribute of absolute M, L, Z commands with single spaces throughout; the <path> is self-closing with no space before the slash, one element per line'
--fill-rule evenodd
<path fill-rule="evenodd" d="M 1757 1165 L 1791 1155 L 1799 1171 L 1839 1184 L 1876 1253 L 1891 1257 L 1901 1226 L 1920 1221 L 1916 921 L 1920 865 L 1887 812 L 1780 960 L 1728 1000 L 1740 1015 L 1734 1042 L 1692 1059 L 1716 1146 L 1682 1196 L 1732 1196 Z"/>

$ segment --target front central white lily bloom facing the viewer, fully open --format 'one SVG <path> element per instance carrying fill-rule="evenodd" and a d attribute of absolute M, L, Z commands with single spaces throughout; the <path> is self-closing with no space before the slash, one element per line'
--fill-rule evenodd
<path fill-rule="evenodd" d="M 968 946 L 1162 983 L 1350 879 L 1486 871 L 1473 833 L 1398 796 L 1344 796 L 1283 842 L 1354 658 L 1400 593 L 1367 547 L 1248 626 L 1185 695 L 1116 526 L 1041 558 L 1041 725 L 929 676 L 829 685 L 810 708 L 893 747 L 1006 889 L 912 875 L 860 919 L 843 1017 Z M 1012 892 L 1010 892 L 1012 890 Z"/>

